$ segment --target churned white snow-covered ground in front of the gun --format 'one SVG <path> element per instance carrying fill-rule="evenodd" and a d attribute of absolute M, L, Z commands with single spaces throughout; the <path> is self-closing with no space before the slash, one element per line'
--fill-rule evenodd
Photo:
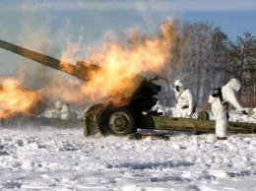
<path fill-rule="evenodd" d="M 82 128 L 0 130 L 0 190 L 256 190 L 256 135 L 85 138 Z"/>

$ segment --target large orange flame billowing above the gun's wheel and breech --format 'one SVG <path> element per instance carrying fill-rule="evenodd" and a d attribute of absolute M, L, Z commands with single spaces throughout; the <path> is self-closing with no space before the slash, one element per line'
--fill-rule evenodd
<path fill-rule="evenodd" d="M 82 85 L 80 94 L 87 101 L 98 102 L 132 89 L 133 78 L 138 74 L 160 73 L 171 58 L 170 47 L 175 36 L 172 22 L 166 21 L 160 26 L 158 36 L 134 32 L 130 33 L 127 43 L 107 41 L 101 51 L 93 52 L 86 60 L 100 65 L 101 70 L 90 74 L 90 81 Z M 70 60 L 77 49 L 78 46 L 70 44 L 62 59 Z"/>

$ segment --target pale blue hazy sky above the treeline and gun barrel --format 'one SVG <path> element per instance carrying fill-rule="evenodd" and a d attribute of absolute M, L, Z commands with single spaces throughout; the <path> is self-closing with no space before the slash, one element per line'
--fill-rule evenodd
<path fill-rule="evenodd" d="M 75 59 L 83 59 L 105 35 L 156 32 L 166 18 L 209 22 L 231 39 L 246 31 L 256 35 L 254 0 L 1 0 L 0 17 L 0 39 L 56 58 L 74 43 Z M 2 49 L 0 58 L 4 75 L 23 62 Z"/>

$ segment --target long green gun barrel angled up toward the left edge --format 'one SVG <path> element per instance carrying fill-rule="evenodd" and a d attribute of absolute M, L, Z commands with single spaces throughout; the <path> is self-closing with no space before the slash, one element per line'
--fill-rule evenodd
<path fill-rule="evenodd" d="M 24 48 L 22 46 L 18 46 L 12 43 L 9 43 L 7 41 L 0 39 L 0 47 L 3 49 L 6 49 L 8 51 L 14 52 L 16 54 L 19 54 L 21 56 L 24 56 L 26 58 L 29 58 L 35 62 L 38 62 L 44 66 L 62 71 L 64 73 L 67 73 L 69 75 L 75 76 L 81 80 L 87 80 L 87 77 L 82 77 L 81 74 L 81 68 L 75 65 L 72 65 L 67 62 L 62 62 L 58 59 L 55 59 L 53 57 L 43 55 L 41 53 L 32 51 L 30 49 Z"/>

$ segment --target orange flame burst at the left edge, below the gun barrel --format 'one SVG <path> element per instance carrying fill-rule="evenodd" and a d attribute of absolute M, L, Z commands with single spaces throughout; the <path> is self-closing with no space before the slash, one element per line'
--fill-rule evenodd
<path fill-rule="evenodd" d="M 42 100 L 42 96 L 20 88 L 21 82 L 16 79 L 4 79 L 0 82 L 0 118 L 9 118 L 15 114 L 34 114 L 34 106 Z"/>

